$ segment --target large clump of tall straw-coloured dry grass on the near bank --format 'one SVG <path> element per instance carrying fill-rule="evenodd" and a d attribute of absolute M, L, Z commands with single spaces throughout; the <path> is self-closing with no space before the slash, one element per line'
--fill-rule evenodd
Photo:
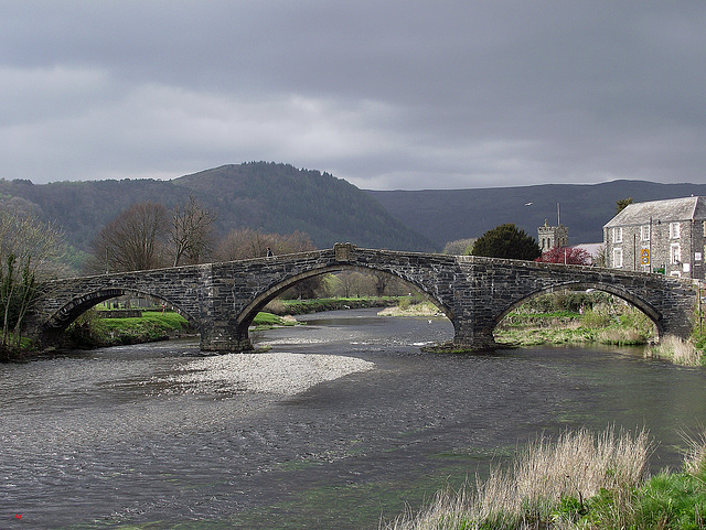
<path fill-rule="evenodd" d="M 645 479 L 651 450 L 644 430 L 634 435 L 612 428 L 598 435 L 580 430 L 561 434 L 556 443 L 543 437 L 530 444 L 510 468 L 493 468 L 488 479 L 477 478 L 474 488 L 441 491 L 417 516 L 407 513 L 385 528 L 571 528 L 588 500 L 602 491 L 611 493 L 622 509 Z"/>

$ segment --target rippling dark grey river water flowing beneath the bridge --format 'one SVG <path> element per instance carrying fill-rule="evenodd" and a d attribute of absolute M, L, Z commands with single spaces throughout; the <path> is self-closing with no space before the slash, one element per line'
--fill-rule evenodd
<path fill-rule="evenodd" d="M 295 396 L 179 382 L 196 339 L 0 365 L 0 529 L 376 529 L 542 434 L 704 429 L 706 372 L 609 348 L 421 353 L 446 318 L 374 310 L 259 332 L 375 368 Z"/>

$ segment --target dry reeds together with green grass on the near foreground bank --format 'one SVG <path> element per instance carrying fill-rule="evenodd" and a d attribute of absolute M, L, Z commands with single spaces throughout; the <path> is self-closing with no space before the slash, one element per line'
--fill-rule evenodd
<path fill-rule="evenodd" d="M 564 433 L 539 439 L 506 468 L 437 494 L 386 530 L 706 528 L 706 437 L 689 440 L 682 470 L 650 477 L 648 433 Z"/>

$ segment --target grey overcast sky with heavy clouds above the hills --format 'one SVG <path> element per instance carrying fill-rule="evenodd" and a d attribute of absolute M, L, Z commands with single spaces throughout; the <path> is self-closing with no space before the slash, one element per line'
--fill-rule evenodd
<path fill-rule="evenodd" d="M 0 177 L 706 182 L 706 2 L 0 0 Z"/>

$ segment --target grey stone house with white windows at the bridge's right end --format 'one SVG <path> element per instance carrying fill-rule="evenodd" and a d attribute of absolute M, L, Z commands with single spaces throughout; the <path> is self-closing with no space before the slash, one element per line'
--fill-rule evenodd
<path fill-rule="evenodd" d="M 704 279 L 706 197 L 628 205 L 603 226 L 606 266 Z"/>

